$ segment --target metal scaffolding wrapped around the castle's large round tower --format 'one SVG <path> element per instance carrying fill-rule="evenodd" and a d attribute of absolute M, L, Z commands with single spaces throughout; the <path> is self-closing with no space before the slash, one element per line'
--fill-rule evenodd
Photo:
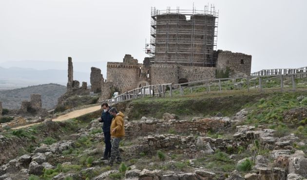
<path fill-rule="evenodd" d="M 215 67 L 218 11 L 214 5 L 204 10 L 151 11 L 151 39 L 145 52 L 151 64 Z"/>

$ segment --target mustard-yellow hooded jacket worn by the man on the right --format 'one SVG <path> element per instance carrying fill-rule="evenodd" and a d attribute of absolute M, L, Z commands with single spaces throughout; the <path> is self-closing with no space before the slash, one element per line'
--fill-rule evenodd
<path fill-rule="evenodd" d="M 110 132 L 111 137 L 121 138 L 125 136 L 125 126 L 124 126 L 124 114 L 122 112 L 118 112 L 116 116 L 112 119 Z M 115 132 L 112 132 L 112 129 L 115 128 Z"/>

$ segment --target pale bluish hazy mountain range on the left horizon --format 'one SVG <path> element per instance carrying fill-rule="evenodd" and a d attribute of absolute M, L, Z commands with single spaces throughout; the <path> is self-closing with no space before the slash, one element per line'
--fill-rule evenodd
<path fill-rule="evenodd" d="M 101 69 L 106 78 L 105 62 L 74 62 L 74 80 L 90 86 L 91 67 Z M 0 90 L 15 89 L 39 84 L 56 83 L 66 86 L 67 62 L 58 61 L 7 61 L 0 63 Z"/>

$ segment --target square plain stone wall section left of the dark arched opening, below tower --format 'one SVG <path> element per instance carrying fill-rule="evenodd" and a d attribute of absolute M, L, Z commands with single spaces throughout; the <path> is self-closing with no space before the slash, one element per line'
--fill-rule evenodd
<path fill-rule="evenodd" d="M 152 65 L 152 84 L 178 83 L 178 66 L 175 65 Z"/>

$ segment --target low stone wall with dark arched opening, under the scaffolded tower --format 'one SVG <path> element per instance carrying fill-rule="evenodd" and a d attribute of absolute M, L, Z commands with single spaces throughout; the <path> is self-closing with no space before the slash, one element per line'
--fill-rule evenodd
<path fill-rule="evenodd" d="M 214 67 L 188 67 L 180 66 L 178 70 L 179 78 L 186 78 L 189 82 L 215 78 Z"/>

